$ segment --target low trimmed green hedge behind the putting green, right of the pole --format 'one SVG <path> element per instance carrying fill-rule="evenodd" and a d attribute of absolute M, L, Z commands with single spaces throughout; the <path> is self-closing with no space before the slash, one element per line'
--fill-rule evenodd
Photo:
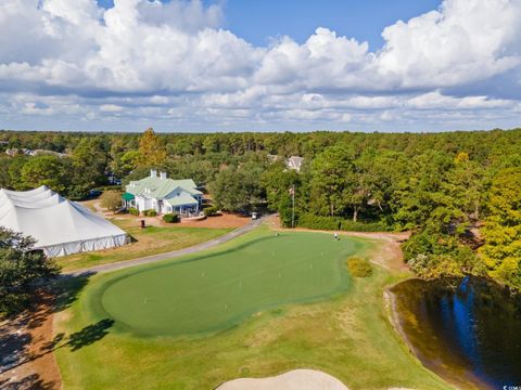
<path fill-rule="evenodd" d="M 390 231 L 382 222 L 353 222 L 339 217 L 319 217 L 302 214 L 298 226 L 316 230 L 338 230 L 347 232 L 386 232 Z"/>

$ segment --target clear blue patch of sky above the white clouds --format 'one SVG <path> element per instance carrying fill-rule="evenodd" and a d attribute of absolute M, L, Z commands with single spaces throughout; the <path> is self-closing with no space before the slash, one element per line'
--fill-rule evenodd
<path fill-rule="evenodd" d="M 163 1 L 168 2 L 168 1 Z M 113 0 L 98 0 L 104 8 Z M 204 1 L 205 4 L 219 3 Z M 368 41 L 371 50 L 383 44 L 382 29 L 397 20 L 435 10 L 440 0 L 226 0 L 224 26 L 256 46 L 288 35 L 304 42 L 317 27 Z"/>

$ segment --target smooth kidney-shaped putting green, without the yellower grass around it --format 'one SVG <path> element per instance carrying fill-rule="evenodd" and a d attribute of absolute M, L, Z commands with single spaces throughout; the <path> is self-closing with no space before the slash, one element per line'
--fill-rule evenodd
<path fill-rule="evenodd" d="M 98 308 L 145 336 L 224 329 L 262 310 L 348 287 L 346 257 L 369 244 L 332 234 L 253 232 L 220 250 L 109 278 Z"/>

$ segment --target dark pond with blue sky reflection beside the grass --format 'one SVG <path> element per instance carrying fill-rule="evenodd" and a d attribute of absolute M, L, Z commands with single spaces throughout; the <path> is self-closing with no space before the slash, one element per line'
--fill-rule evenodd
<path fill-rule="evenodd" d="M 521 297 L 491 282 L 407 281 L 391 290 L 422 363 L 462 388 L 521 389 Z"/>

